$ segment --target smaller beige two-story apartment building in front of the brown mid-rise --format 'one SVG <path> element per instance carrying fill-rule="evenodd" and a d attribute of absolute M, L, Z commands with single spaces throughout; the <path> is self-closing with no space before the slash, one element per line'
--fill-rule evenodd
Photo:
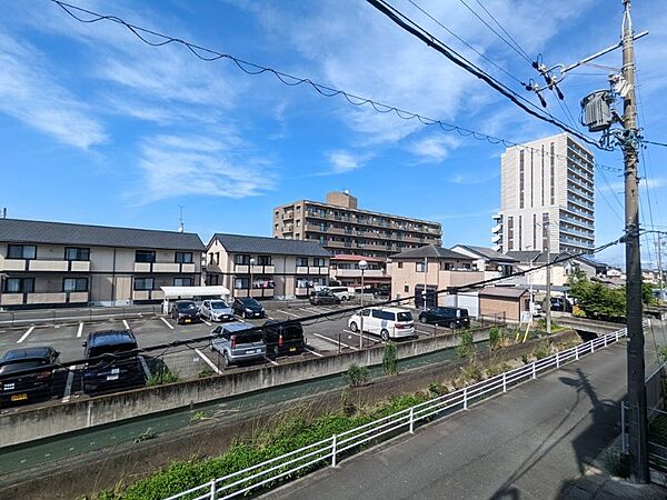
<path fill-rule="evenodd" d="M 206 253 L 206 284 L 233 297 L 307 297 L 329 282 L 331 253 L 315 241 L 216 233 Z"/>

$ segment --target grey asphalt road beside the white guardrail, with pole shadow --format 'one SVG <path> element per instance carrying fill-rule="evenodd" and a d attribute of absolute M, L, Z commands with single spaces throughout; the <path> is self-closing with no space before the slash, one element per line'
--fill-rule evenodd
<path fill-rule="evenodd" d="M 618 434 L 625 346 L 598 351 L 270 499 L 550 499 Z"/>

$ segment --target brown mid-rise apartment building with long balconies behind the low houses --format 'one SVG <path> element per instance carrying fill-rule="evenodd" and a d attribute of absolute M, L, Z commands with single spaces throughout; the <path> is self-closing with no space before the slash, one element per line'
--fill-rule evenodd
<path fill-rule="evenodd" d="M 334 191 L 327 201 L 300 200 L 273 209 L 275 238 L 317 241 L 334 254 L 387 259 L 394 253 L 440 244 L 438 222 L 360 210 L 357 198 Z"/>

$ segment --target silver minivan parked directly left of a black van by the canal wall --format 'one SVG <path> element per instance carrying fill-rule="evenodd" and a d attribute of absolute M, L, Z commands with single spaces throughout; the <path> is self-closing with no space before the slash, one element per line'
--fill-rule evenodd
<path fill-rule="evenodd" d="M 222 368 L 229 364 L 263 360 L 267 356 L 267 346 L 259 330 L 252 329 L 248 323 L 228 323 L 215 328 L 211 333 L 216 336 L 211 340 L 211 349 L 221 358 Z"/>

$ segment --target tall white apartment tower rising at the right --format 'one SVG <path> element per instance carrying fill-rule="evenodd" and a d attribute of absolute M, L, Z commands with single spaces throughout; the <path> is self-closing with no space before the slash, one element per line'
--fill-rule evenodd
<path fill-rule="evenodd" d="M 494 249 L 585 252 L 595 248 L 594 157 L 569 134 L 508 148 L 500 160 Z"/>

